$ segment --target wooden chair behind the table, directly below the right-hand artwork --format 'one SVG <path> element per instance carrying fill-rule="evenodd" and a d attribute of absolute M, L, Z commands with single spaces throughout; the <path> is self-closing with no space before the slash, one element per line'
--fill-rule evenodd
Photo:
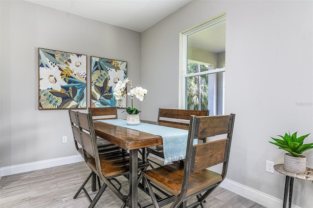
<path fill-rule="evenodd" d="M 117 119 L 117 107 L 89 107 L 88 112 L 92 114 L 93 120 Z M 100 154 L 123 151 L 121 147 L 108 142 L 105 138 L 97 137 L 97 145 Z"/>

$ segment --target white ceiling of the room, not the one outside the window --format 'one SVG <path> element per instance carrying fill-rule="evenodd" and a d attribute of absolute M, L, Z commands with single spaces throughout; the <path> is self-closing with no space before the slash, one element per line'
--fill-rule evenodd
<path fill-rule="evenodd" d="M 26 0 L 142 32 L 192 0 Z"/>

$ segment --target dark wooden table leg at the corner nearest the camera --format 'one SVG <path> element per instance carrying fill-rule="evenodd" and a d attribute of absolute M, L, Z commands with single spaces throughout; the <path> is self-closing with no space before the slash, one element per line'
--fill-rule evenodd
<path fill-rule="evenodd" d="M 129 191 L 130 191 L 129 207 L 137 208 L 137 204 L 138 204 L 138 149 L 130 150 Z"/>

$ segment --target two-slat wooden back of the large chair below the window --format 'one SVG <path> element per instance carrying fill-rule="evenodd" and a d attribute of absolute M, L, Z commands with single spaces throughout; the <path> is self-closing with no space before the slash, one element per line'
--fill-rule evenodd
<path fill-rule="evenodd" d="M 223 165 L 222 178 L 226 175 L 232 131 L 235 114 L 223 116 L 191 116 L 186 167 L 190 165 L 189 173 L 201 171 L 221 163 Z M 226 135 L 226 138 L 212 142 L 193 145 L 193 140 L 204 137 Z"/>

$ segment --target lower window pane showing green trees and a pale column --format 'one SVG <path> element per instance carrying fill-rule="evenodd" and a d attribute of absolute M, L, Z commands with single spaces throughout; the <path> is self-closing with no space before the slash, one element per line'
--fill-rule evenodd
<path fill-rule="evenodd" d="M 224 72 L 186 78 L 187 109 L 223 115 Z"/>

